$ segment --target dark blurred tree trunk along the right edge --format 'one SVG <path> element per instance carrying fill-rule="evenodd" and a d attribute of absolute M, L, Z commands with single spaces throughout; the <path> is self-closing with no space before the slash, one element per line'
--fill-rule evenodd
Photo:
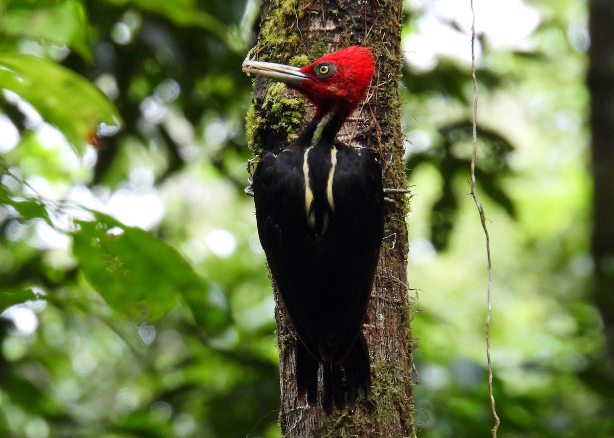
<path fill-rule="evenodd" d="M 594 299 L 604 320 L 610 358 L 614 359 L 614 2 L 592 0 L 589 12 Z"/>

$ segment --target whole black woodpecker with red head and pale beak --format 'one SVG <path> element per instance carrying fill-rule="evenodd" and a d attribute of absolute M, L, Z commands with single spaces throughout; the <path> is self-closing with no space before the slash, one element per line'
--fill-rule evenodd
<path fill-rule="evenodd" d="M 383 238 L 382 169 L 336 134 L 375 72 L 373 49 L 352 46 L 305 67 L 249 60 L 243 71 L 286 83 L 315 106 L 298 139 L 260 159 L 252 190 L 258 236 L 297 334 L 298 401 L 325 412 L 370 398 L 362 332 Z M 280 150 L 278 148 L 277 150 Z"/>

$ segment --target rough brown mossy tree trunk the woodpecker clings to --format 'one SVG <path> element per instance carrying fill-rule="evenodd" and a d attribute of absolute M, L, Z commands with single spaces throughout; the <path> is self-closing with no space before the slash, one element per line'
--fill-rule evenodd
<path fill-rule="evenodd" d="M 400 26 L 402 1 L 265 0 L 258 44 L 258 60 L 305 65 L 319 56 L 349 45 L 375 48 L 376 74 L 367 104 L 341 128 L 339 139 L 378 152 L 382 162 L 394 157 L 384 186 L 402 187 L 403 145 L 400 134 L 398 79 L 402 56 Z M 279 152 L 313 115 L 303 98 L 286 86 L 256 79 L 254 104 L 247 131 L 255 153 Z M 295 337 L 284 325 L 278 293 L 276 320 L 281 372 L 280 422 L 285 437 L 413 436 L 411 400 L 411 336 L 413 307 L 408 301 L 405 225 L 406 196 L 394 195 L 387 206 L 384 242 L 378 275 L 371 293 L 365 337 L 373 373 L 370 401 L 359 399 L 354 412 L 298 405 L 295 383 Z M 357 236 L 359 239 L 360 236 Z"/>

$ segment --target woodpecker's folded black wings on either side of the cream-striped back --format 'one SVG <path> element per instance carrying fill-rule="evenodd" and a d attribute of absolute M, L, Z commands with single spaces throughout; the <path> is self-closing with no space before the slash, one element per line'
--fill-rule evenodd
<path fill-rule="evenodd" d="M 254 173 L 260 242 L 293 325 L 319 361 L 341 363 L 359 336 L 383 236 L 381 168 L 368 150 L 338 148 L 335 209 L 309 229 L 303 151 L 267 154 Z"/>

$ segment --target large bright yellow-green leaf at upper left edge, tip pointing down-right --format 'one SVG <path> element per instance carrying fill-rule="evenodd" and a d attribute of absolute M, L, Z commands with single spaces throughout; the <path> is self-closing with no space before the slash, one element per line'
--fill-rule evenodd
<path fill-rule="evenodd" d="M 120 125 L 120 115 L 102 91 L 52 61 L 21 53 L 0 53 L 0 88 L 17 93 L 60 129 L 82 155 L 99 123 Z"/>

